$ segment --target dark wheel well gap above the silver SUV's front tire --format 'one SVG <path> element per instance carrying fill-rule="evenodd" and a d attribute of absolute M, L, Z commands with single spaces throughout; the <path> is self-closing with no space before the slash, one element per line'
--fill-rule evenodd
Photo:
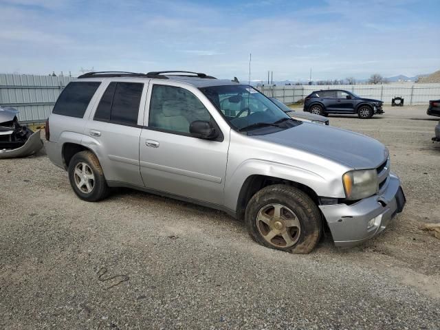
<path fill-rule="evenodd" d="M 243 186 L 241 186 L 241 190 L 239 193 L 239 200 L 236 204 L 236 217 L 237 219 L 244 219 L 246 206 L 248 202 L 255 195 L 255 193 L 266 186 L 270 186 L 272 184 L 287 184 L 288 186 L 293 186 L 305 192 L 309 197 L 316 203 L 319 204 L 318 195 L 314 192 L 313 189 L 305 186 L 304 184 L 299 184 L 295 181 L 290 181 L 286 179 L 280 179 L 278 177 L 269 177 L 266 175 L 251 175 L 248 179 L 245 180 Z"/>

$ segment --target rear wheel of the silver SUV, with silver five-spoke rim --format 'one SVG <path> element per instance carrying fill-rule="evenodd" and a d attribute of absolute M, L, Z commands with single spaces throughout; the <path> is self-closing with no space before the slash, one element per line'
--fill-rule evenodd
<path fill-rule="evenodd" d="M 72 189 L 85 201 L 100 201 L 107 197 L 109 186 L 98 158 L 91 151 L 76 153 L 69 162 L 69 181 Z"/>

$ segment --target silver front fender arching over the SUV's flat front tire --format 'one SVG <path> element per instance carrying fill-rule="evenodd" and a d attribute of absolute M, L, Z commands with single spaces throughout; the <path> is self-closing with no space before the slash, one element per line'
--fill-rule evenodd
<path fill-rule="evenodd" d="M 239 194 L 246 179 L 252 175 L 265 175 L 294 181 L 303 184 L 322 197 L 344 198 L 342 178 L 334 175 L 327 179 L 306 168 L 292 166 L 278 162 L 270 162 L 263 159 L 247 159 L 242 162 L 234 173 L 227 175 L 225 180 L 225 207 L 236 210 Z M 327 173 L 326 173 L 327 174 Z M 331 177 L 331 179 L 329 179 Z"/>

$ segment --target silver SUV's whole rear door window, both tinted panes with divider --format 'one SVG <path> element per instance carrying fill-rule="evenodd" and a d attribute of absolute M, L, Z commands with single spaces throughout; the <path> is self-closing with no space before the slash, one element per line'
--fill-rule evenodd
<path fill-rule="evenodd" d="M 142 83 L 110 83 L 102 95 L 94 120 L 137 125 Z"/>

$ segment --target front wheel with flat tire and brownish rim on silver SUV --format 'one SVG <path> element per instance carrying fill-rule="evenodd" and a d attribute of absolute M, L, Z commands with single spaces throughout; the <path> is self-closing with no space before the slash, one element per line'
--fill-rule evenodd
<path fill-rule="evenodd" d="M 267 248 L 307 254 L 322 233 L 318 207 L 292 186 L 267 186 L 250 199 L 245 223 L 252 239 Z"/>

